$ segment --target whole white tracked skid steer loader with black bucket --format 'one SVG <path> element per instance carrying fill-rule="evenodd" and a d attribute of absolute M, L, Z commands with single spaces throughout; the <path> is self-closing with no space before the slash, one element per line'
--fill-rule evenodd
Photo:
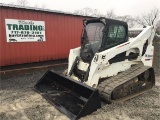
<path fill-rule="evenodd" d="M 81 47 L 71 49 L 65 75 L 48 71 L 35 85 L 57 109 L 78 119 L 107 103 L 127 100 L 155 84 L 154 26 L 128 30 L 106 18 L 83 21 Z"/>

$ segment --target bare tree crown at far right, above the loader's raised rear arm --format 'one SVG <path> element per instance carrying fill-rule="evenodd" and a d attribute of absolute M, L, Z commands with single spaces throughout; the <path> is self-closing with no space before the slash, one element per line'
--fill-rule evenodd
<path fill-rule="evenodd" d="M 149 13 L 144 13 L 138 16 L 137 23 L 143 26 L 155 25 L 160 15 L 160 10 L 158 8 L 153 8 Z"/>

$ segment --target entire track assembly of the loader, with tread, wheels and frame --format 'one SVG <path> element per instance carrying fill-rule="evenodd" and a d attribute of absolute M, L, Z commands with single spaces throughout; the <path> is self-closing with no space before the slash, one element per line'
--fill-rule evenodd
<path fill-rule="evenodd" d="M 97 89 L 100 97 L 108 103 L 123 101 L 135 97 L 155 84 L 154 70 L 152 67 L 137 64 L 119 73 L 117 76 L 103 79 Z"/>

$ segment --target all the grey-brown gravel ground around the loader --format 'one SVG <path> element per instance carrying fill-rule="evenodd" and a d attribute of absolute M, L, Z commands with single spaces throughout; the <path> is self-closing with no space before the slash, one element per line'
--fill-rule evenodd
<path fill-rule="evenodd" d="M 65 67 L 54 68 L 61 72 Z M 68 120 L 33 90 L 45 71 L 1 78 L 0 120 Z M 160 120 L 160 77 L 152 90 L 121 103 L 104 104 L 82 120 Z"/>

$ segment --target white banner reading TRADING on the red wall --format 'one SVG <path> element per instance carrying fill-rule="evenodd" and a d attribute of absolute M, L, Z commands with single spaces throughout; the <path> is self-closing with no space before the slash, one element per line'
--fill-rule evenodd
<path fill-rule="evenodd" d="M 45 39 L 45 22 L 5 19 L 7 42 L 42 42 Z"/>

